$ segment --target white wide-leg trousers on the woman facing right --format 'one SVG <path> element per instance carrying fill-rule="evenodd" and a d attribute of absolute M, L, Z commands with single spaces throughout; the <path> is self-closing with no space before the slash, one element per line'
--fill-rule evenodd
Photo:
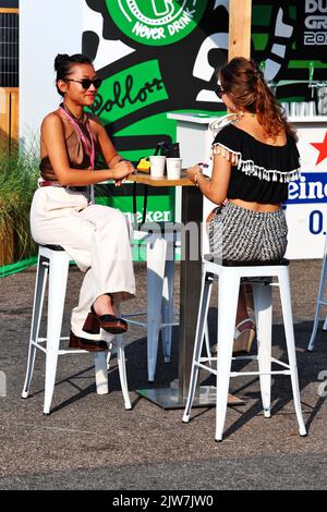
<path fill-rule="evenodd" d="M 126 217 L 118 209 L 93 205 L 86 193 L 47 186 L 38 188 L 31 208 L 33 239 L 43 245 L 61 245 L 85 272 L 80 302 L 72 313 L 72 331 L 82 338 L 111 341 L 105 331 L 82 330 L 94 301 L 104 293 L 114 302 L 135 294 L 135 279 Z"/>

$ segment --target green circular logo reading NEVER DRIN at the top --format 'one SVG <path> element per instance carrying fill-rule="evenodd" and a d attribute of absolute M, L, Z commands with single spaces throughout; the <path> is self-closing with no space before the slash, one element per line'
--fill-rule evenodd
<path fill-rule="evenodd" d="M 107 0 L 116 25 L 142 45 L 172 45 L 186 37 L 203 16 L 207 0 Z"/>

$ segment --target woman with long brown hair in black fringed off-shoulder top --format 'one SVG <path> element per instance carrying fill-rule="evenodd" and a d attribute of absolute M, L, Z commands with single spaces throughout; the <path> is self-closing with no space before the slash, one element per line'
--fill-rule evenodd
<path fill-rule="evenodd" d="M 220 205 L 208 225 L 210 251 L 229 260 L 279 260 L 288 233 L 281 205 L 299 178 L 295 133 L 253 61 L 234 58 L 217 78 L 217 95 L 233 115 L 214 141 L 211 178 L 201 166 L 189 169 L 201 192 Z M 249 352 L 254 334 L 241 287 L 234 354 Z"/>

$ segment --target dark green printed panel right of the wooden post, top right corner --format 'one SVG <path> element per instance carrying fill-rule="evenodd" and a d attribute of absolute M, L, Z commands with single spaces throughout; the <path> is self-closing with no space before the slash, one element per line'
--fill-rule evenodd
<path fill-rule="evenodd" d="M 314 99 L 310 68 L 315 81 L 327 78 L 326 0 L 253 0 L 251 32 L 251 54 L 265 61 L 265 77 L 278 84 L 277 98 Z"/>

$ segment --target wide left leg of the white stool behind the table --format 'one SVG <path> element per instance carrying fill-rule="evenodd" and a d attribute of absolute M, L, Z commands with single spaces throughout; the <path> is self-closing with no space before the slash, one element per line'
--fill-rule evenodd
<path fill-rule="evenodd" d="M 152 382 L 157 364 L 166 255 L 164 237 L 147 244 L 147 375 Z"/>

